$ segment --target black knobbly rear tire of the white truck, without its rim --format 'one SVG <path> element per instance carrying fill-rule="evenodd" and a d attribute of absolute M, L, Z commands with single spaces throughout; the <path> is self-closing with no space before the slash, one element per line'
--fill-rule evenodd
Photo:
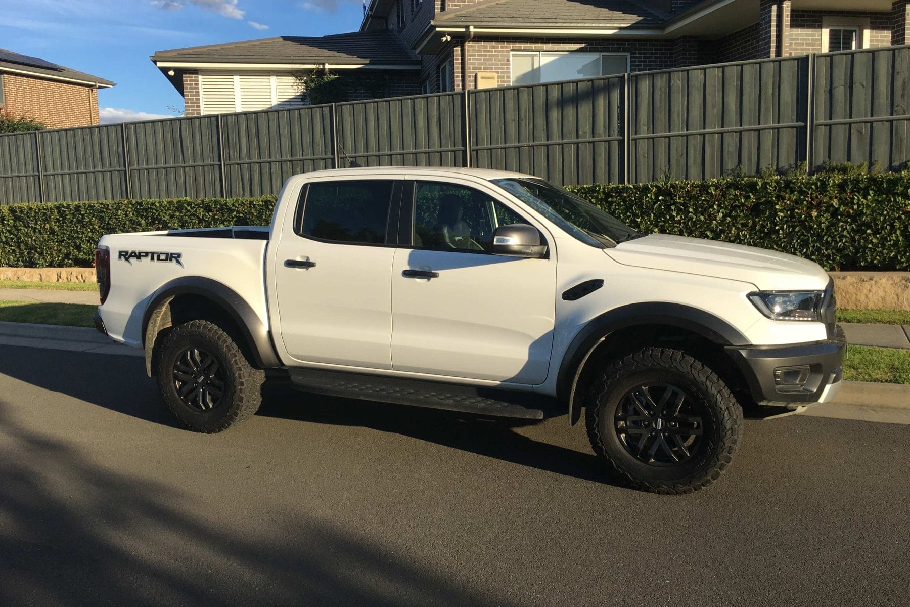
<path fill-rule="evenodd" d="M 214 409 L 195 410 L 177 394 L 175 364 L 190 348 L 214 357 L 222 371 L 224 389 Z M 191 320 L 171 329 L 164 337 L 158 354 L 157 379 L 167 408 L 177 420 L 189 430 L 210 434 L 227 430 L 258 410 L 265 373 L 249 363 L 223 329 L 207 320 Z"/>

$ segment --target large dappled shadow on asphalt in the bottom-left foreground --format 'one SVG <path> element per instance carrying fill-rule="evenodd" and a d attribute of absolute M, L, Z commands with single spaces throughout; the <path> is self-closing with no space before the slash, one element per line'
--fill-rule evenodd
<path fill-rule="evenodd" d="M 5 607 L 508 604 L 299 512 L 226 524 L 211 504 L 99 465 L 10 410 L 0 400 Z"/>

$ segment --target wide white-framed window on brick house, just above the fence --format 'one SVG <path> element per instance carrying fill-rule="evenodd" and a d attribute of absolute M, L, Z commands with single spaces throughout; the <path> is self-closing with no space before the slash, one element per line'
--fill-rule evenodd
<path fill-rule="evenodd" d="M 629 55 L 626 53 L 515 52 L 511 54 L 511 83 L 535 85 L 610 76 L 623 74 L 628 68 Z"/>

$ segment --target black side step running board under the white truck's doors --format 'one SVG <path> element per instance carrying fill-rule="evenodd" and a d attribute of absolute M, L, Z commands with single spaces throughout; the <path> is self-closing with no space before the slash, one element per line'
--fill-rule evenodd
<path fill-rule="evenodd" d="M 523 420 L 542 420 L 537 407 L 547 402 L 531 393 L 318 369 L 290 369 L 290 380 L 295 389 L 314 394 Z"/>

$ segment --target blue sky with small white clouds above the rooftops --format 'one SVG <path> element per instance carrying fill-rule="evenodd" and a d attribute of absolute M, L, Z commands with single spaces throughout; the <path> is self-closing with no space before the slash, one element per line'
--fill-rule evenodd
<path fill-rule="evenodd" d="M 183 110 L 183 98 L 148 60 L 155 51 L 351 32 L 363 16 L 362 0 L 6 0 L 3 5 L 0 48 L 116 82 L 98 92 L 102 122 Z"/>

